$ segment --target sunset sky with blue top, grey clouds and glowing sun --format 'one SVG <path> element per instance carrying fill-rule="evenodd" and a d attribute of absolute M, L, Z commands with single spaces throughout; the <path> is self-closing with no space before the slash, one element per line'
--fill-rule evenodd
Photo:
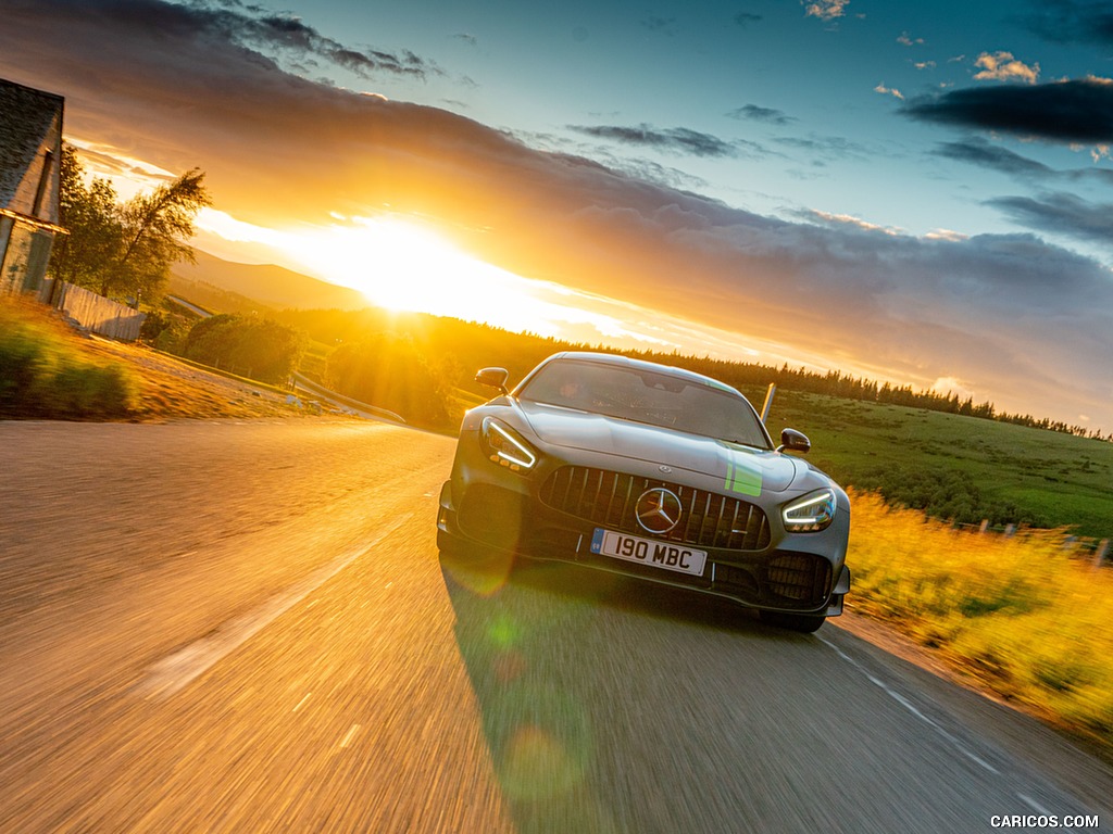
<path fill-rule="evenodd" d="M 376 302 L 1113 431 L 1113 7 L 0 0 L 121 195 Z"/>

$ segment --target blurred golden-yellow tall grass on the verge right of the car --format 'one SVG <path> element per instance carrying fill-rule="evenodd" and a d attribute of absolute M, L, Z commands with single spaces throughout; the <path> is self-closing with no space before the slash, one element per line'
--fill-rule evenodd
<path fill-rule="evenodd" d="M 1113 569 L 1062 534 L 955 530 L 851 495 L 855 609 L 1113 756 Z"/>

